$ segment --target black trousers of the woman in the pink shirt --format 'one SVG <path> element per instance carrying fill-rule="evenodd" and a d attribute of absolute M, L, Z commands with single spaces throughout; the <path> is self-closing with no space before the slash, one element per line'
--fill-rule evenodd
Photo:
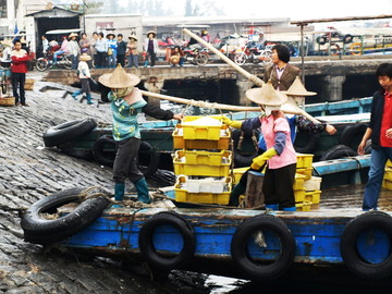
<path fill-rule="evenodd" d="M 280 169 L 269 169 L 267 166 L 262 182 L 262 194 L 266 205 L 279 204 L 279 208 L 295 206 L 293 184 L 296 163 Z"/>

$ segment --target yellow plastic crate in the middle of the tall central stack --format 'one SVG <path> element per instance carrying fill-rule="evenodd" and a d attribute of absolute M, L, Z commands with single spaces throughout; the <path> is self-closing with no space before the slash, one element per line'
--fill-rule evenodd
<path fill-rule="evenodd" d="M 228 158 L 226 163 L 222 163 L 223 158 Z M 175 174 L 201 176 L 228 176 L 231 162 L 232 152 L 226 150 L 220 152 L 177 150 L 173 159 Z"/>

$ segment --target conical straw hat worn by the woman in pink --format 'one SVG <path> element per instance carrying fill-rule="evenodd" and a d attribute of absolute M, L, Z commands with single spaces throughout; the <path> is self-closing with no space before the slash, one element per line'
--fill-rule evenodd
<path fill-rule="evenodd" d="M 261 88 L 248 89 L 245 95 L 250 101 L 265 106 L 281 106 L 287 100 L 287 96 L 273 88 L 271 81 Z"/>

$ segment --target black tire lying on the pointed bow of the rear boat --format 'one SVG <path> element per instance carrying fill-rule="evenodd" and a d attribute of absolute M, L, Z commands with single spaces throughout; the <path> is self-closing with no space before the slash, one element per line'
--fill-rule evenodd
<path fill-rule="evenodd" d="M 96 126 L 97 122 L 94 119 L 86 118 L 49 127 L 42 135 L 45 146 L 53 147 L 71 142 L 78 136 L 88 133 Z"/>

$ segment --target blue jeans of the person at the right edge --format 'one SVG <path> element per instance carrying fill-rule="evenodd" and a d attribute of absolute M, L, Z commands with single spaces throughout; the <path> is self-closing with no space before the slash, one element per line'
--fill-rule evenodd
<path fill-rule="evenodd" d="M 392 160 L 392 147 L 371 148 L 369 180 L 365 188 L 363 210 L 377 209 L 388 159 Z"/>

